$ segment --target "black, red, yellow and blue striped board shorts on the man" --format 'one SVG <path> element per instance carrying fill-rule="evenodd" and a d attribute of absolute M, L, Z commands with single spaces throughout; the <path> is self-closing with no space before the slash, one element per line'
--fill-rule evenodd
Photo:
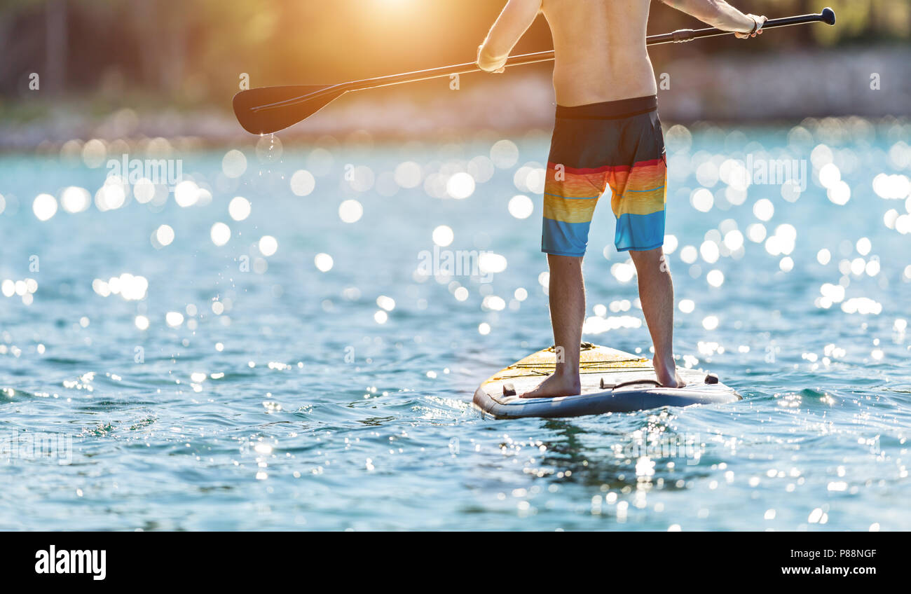
<path fill-rule="evenodd" d="M 664 243 L 667 158 L 658 97 L 557 106 L 544 187 L 541 251 L 582 256 L 598 199 L 610 188 L 617 251 Z"/>

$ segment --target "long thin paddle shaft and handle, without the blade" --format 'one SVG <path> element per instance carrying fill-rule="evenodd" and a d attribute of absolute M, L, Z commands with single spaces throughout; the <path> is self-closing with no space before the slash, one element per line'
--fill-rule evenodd
<path fill-rule="evenodd" d="M 824 22 L 829 25 L 833 25 L 834 17 L 834 12 L 830 8 L 826 8 L 822 13 L 818 15 L 798 15 L 785 16 L 783 18 L 773 18 L 765 22 L 763 29 L 771 29 L 773 27 L 779 26 L 804 25 L 806 23 L 817 22 Z M 648 36 L 646 37 L 645 44 L 647 46 L 660 46 L 662 44 L 683 43 L 692 41 L 693 39 L 701 39 L 702 37 L 733 35 L 733 33 L 734 32 L 732 31 L 722 31 L 722 29 L 715 27 L 707 27 L 704 29 L 695 30 L 678 29 L 677 31 L 671 31 L 670 33 Z M 534 54 L 522 54 L 508 58 L 505 66 L 511 67 L 520 66 L 523 64 L 535 64 L 537 62 L 549 62 L 553 59 L 553 50 L 547 52 L 536 52 Z M 477 67 L 477 64 L 475 62 L 466 62 L 465 64 L 456 64 L 455 66 L 428 68 L 426 70 L 416 70 L 415 72 L 405 72 L 403 74 L 389 75 L 385 77 L 364 78 L 363 80 L 354 80 L 348 83 L 331 85 L 309 95 L 294 97 L 292 99 L 286 99 L 284 101 L 278 101 L 276 103 L 258 106 L 256 108 L 252 108 L 252 110 L 259 111 L 261 109 L 284 108 L 287 106 L 295 105 L 305 100 L 309 101 L 311 99 L 332 95 L 333 93 L 339 93 L 340 91 L 346 93 L 348 91 L 357 91 L 364 88 L 389 87 L 391 85 L 401 85 L 403 83 L 428 80 L 430 78 L 452 77 L 454 75 L 470 74 L 472 72 L 478 72 L 480 70 L 481 68 Z"/>

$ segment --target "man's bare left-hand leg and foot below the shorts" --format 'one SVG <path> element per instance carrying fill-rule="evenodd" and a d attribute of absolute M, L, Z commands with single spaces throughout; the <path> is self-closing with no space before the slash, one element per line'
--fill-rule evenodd
<path fill-rule="evenodd" d="M 582 258 L 548 254 L 550 267 L 550 323 L 554 344 L 563 347 L 563 362 L 557 371 L 522 398 L 571 396 L 582 391 L 578 377 L 578 350 L 585 321 L 585 284 Z"/>

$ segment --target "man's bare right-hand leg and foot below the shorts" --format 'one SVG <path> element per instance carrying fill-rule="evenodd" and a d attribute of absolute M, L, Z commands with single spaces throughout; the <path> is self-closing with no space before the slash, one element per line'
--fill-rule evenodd
<path fill-rule="evenodd" d="M 655 356 L 651 364 L 662 385 L 681 388 L 685 384 L 677 374 L 673 356 L 674 285 L 670 267 L 661 248 L 649 251 L 630 251 L 636 274 L 639 276 L 639 299 L 645 322 L 649 325 Z"/>

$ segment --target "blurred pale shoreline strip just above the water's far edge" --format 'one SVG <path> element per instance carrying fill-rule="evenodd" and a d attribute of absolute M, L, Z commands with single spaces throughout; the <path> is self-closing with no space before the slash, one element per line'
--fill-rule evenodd
<path fill-rule="evenodd" d="M 783 55 L 715 56 L 655 60 L 660 113 L 667 122 L 700 120 L 762 125 L 814 117 L 911 116 L 911 48 L 837 48 Z M 341 97 L 329 107 L 278 136 L 309 141 L 366 130 L 378 140 L 445 139 L 481 130 L 499 134 L 546 132 L 552 127 L 554 95 L 549 67 L 517 68 L 507 75 L 468 75 L 459 89 L 448 80 L 390 87 Z M 871 88 L 878 75 L 880 89 Z M 54 154 L 67 141 L 99 138 L 144 144 L 151 138 L 177 139 L 183 148 L 249 143 L 237 124 L 230 97 L 210 108 L 174 108 L 144 101 L 92 107 L 91 98 L 60 97 L 50 102 L 7 104 L 0 121 L 0 151 Z M 26 117 L 16 117 L 16 114 Z"/>

